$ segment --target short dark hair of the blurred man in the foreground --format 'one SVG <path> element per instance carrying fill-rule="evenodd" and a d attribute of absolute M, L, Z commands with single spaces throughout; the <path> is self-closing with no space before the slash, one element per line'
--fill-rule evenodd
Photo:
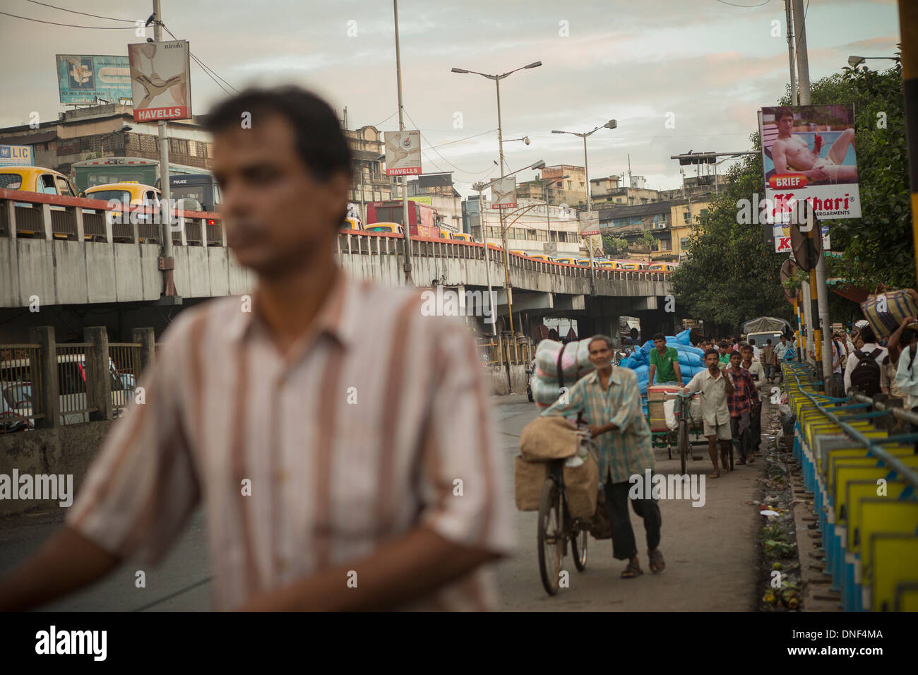
<path fill-rule="evenodd" d="M 245 113 L 252 116 L 252 124 L 269 115 L 285 118 L 293 128 L 300 160 L 317 181 L 324 183 L 339 171 L 353 175 L 351 148 L 338 116 L 319 96 L 297 86 L 246 89 L 214 108 L 207 116 L 207 130 L 216 134 L 237 127 Z"/>

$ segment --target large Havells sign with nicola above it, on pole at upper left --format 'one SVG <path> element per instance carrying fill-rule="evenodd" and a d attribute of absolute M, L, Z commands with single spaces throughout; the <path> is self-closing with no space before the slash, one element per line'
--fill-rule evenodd
<path fill-rule="evenodd" d="M 188 41 L 128 45 L 134 121 L 191 118 Z"/>

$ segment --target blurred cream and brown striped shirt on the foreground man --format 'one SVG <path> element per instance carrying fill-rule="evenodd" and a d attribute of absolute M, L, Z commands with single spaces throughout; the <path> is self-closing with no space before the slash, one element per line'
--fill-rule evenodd
<path fill-rule="evenodd" d="M 201 503 L 219 610 L 368 557 L 420 524 L 510 553 L 475 341 L 463 321 L 420 308 L 416 291 L 339 270 L 286 355 L 241 298 L 182 312 L 144 378 L 145 403 L 113 425 L 68 523 L 118 557 L 156 562 Z M 490 565 L 393 609 L 496 602 Z"/>

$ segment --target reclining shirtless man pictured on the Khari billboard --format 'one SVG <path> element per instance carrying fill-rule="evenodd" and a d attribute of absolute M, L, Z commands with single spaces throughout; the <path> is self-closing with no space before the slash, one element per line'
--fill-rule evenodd
<path fill-rule="evenodd" d="M 855 141 L 855 130 L 845 129 L 825 157 L 819 156 L 822 137 L 816 137 L 816 152 L 799 136 L 792 135 L 794 115 L 789 107 L 778 108 L 778 139 L 771 146 L 776 174 L 803 174 L 807 180 L 856 183 L 857 167 L 843 166 L 848 146 Z"/>

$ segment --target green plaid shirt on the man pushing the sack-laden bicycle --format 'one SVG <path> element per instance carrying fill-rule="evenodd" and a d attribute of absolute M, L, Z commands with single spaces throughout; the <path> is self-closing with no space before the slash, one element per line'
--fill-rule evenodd
<path fill-rule="evenodd" d="M 618 429 L 593 439 L 599 448 L 599 480 L 626 483 L 644 469 L 654 468 L 650 427 L 641 411 L 641 390 L 633 370 L 612 367 L 609 388 L 603 390 L 594 370 L 577 380 L 567 391 L 567 401 L 558 399 L 543 415 L 571 415 L 583 412 L 593 426 L 614 423 Z"/>

